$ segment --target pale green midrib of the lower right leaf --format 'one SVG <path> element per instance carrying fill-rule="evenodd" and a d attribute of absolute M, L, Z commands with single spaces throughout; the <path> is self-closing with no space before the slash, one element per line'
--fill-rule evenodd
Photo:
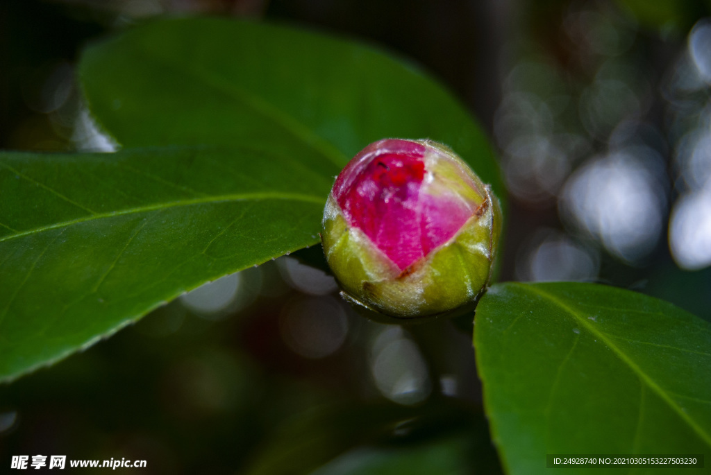
<path fill-rule="evenodd" d="M 693 430 L 694 432 L 701 437 L 701 439 L 706 442 L 711 447 L 711 435 L 708 435 L 705 430 L 702 429 L 697 423 L 689 417 L 688 414 L 686 414 L 677 403 L 670 397 L 670 395 L 664 391 L 658 384 L 650 377 L 648 376 L 647 373 L 642 371 L 642 368 L 640 368 L 634 361 L 632 361 L 629 356 L 627 356 L 624 351 L 619 349 L 618 346 L 612 342 L 609 337 L 606 336 L 606 334 L 600 332 L 598 329 L 596 329 L 592 324 L 590 324 L 587 319 L 583 316 L 580 315 L 579 312 L 576 312 L 574 308 L 570 307 L 570 305 L 567 305 L 565 302 L 560 300 L 558 297 L 555 295 L 552 295 L 550 293 L 547 293 L 545 290 L 541 290 L 540 288 L 533 287 L 532 285 L 524 285 L 521 283 L 511 283 L 515 285 L 518 288 L 522 288 L 523 290 L 527 290 L 529 293 L 533 293 L 538 295 L 539 297 L 543 297 L 547 300 L 550 300 L 553 302 L 555 305 L 558 307 L 562 308 L 565 312 L 568 314 L 572 315 L 573 320 L 575 320 L 578 324 L 580 324 L 582 327 L 587 329 L 588 332 L 596 336 L 597 338 L 600 339 L 601 342 L 604 342 L 609 349 L 611 349 L 616 356 L 621 359 L 621 361 L 629 366 L 634 373 L 640 378 L 641 381 L 646 383 L 646 385 L 654 391 L 662 400 L 664 400 L 669 407 L 677 413 L 679 417 L 681 417 L 682 420 L 684 420 Z"/>

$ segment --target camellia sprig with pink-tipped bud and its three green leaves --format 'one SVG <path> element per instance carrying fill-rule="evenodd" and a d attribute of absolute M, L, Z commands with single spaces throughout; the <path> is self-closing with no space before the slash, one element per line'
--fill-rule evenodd
<path fill-rule="evenodd" d="M 711 325 L 605 285 L 487 288 L 506 216 L 496 160 L 412 66 L 284 26 L 177 18 L 90 45 L 79 75 L 119 150 L 0 153 L 1 381 L 322 234 L 344 295 L 372 311 L 416 321 L 476 302 L 464 318 L 509 473 L 545 473 L 547 454 L 709 463 Z"/>

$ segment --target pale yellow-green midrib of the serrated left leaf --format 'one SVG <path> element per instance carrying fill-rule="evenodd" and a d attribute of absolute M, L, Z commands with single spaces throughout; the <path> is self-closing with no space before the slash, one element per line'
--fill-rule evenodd
<path fill-rule="evenodd" d="M 85 217 L 71 219 L 65 222 L 58 222 L 53 224 L 48 224 L 46 226 L 40 226 L 38 228 L 29 229 L 28 231 L 22 231 L 17 234 L 10 234 L 8 236 L 0 237 L 0 242 L 9 241 L 11 239 L 16 239 L 23 236 L 28 236 L 31 234 L 37 234 L 43 231 L 49 231 L 50 229 L 58 229 L 65 226 L 73 226 L 74 224 L 80 224 L 84 222 L 90 222 L 95 219 L 105 219 L 114 216 L 122 216 L 125 214 L 137 214 L 141 212 L 156 211 L 161 209 L 169 209 L 181 206 L 193 206 L 195 204 L 210 204 L 210 203 L 221 203 L 230 201 L 247 201 L 247 200 L 294 200 L 306 203 L 319 204 L 325 206 L 326 200 L 321 197 L 311 196 L 311 195 L 301 195 L 299 193 L 275 193 L 275 192 L 263 192 L 263 193 L 239 193 L 232 195 L 218 195 L 213 197 L 201 197 L 193 198 L 192 200 L 178 200 L 172 202 L 161 202 L 156 204 L 150 204 L 147 206 L 119 209 L 117 211 L 90 214 Z"/>

